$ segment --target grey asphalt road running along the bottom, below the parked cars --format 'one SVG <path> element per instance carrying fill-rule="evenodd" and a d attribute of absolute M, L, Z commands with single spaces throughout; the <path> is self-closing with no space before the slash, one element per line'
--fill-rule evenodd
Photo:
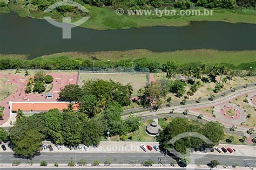
<path fill-rule="evenodd" d="M 33 158 L 33 164 L 39 164 L 42 160 L 48 162 L 48 164 L 53 164 L 58 162 L 59 164 L 68 164 L 69 161 L 77 162 L 79 159 L 85 159 L 88 164 L 95 160 L 100 160 L 103 164 L 106 159 L 112 159 L 113 164 L 131 164 L 131 162 L 136 162 L 140 164 L 144 160 L 152 159 L 156 164 L 158 159 L 166 164 L 173 162 L 170 156 L 166 156 L 161 153 L 41 153 L 41 155 Z M 195 159 L 194 164 L 208 164 L 211 160 L 219 160 L 220 165 L 239 164 L 244 166 L 244 161 L 248 165 L 253 165 L 256 157 L 245 157 L 245 156 L 234 156 L 234 155 L 220 155 L 220 154 L 192 154 L 191 160 Z M 13 160 L 21 160 L 22 163 L 28 162 L 26 159 L 15 158 L 10 152 L 1 153 L 0 164 L 12 163 Z"/>

